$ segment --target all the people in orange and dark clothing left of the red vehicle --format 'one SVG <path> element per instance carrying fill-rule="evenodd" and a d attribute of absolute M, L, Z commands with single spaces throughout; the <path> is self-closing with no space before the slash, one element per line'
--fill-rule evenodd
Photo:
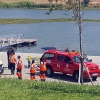
<path fill-rule="evenodd" d="M 23 69 L 23 62 L 21 59 L 21 56 L 18 56 L 16 58 L 15 56 L 15 51 L 14 48 L 11 47 L 8 51 L 7 51 L 7 56 L 8 56 L 8 69 L 11 70 L 11 74 L 14 75 L 15 73 L 15 66 L 16 67 L 16 75 L 18 76 L 18 79 L 22 79 L 22 69 Z M 36 64 L 35 64 L 35 60 L 32 60 L 32 63 L 30 65 L 30 79 L 31 80 L 36 80 Z M 40 63 L 40 80 L 41 81 L 45 81 L 46 80 L 46 63 L 42 62 Z"/>

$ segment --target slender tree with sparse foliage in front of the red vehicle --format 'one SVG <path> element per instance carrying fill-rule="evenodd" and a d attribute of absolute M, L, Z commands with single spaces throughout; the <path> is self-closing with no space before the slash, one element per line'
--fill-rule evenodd
<path fill-rule="evenodd" d="M 50 4 L 53 0 L 49 0 Z M 58 0 L 56 0 L 58 2 Z M 65 0 L 64 0 L 65 2 Z M 87 3 L 87 2 L 86 2 Z M 79 27 L 79 41 L 80 41 L 80 62 L 81 62 L 81 84 L 83 84 L 83 67 L 84 67 L 84 58 L 82 51 L 82 18 L 81 18 L 81 0 L 68 0 L 62 5 L 63 9 L 72 10 L 74 18 L 77 20 Z M 58 7 L 59 9 L 59 7 Z M 53 9 L 52 9 L 53 10 Z M 51 10 L 50 10 L 51 12 Z"/>

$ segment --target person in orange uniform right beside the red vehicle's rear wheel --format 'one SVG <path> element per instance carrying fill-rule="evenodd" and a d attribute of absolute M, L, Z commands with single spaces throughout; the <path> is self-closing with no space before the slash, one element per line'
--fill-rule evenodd
<path fill-rule="evenodd" d="M 46 63 L 45 62 L 40 63 L 40 79 L 41 81 L 46 80 Z"/>

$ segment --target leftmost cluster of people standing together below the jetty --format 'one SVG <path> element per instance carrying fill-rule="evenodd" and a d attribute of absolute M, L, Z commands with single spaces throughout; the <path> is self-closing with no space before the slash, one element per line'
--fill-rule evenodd
<path fill-rule="evenodd" d="M 22 60 L 21 60 L 21 56 L 18 56 L 16 58 L 15 56 L 15 51 L 14 51 L 14 48 L 11 47 L 9 48 L 9 50 L 7 51 L 7 58 L 8 58 L 8 69 L 11 70 L 11 74 L 14 75 L 15 73 L 15 66 L 17 64 L 17 76 L 19 79 L 22 79 L 22 67 L 23 67 L 23 64 L 22 64 Z"/>

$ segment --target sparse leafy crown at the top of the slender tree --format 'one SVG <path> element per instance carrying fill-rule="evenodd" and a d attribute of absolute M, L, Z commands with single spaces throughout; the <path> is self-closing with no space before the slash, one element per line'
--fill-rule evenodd
<path fill-rule="evenodd" d="M 48 0 L 50 2 L 50 9 L 49 12 L 47 14 L 50 14 L 53 11 L 53 7 L 52 7 L 52 2 L 55 0 Z M 62 4 L 60 4 L 60 6 L 57 4 L 57 2 L 60 0 L 56 0 L 56 8 L 57 10 L 71 10 L 73 12 L 73 18 L 78 19 L 78 15 L 79 15 L 79 6 L 82 9 L 84 7 L 84 5 L 80 5 L 79 4 L 79 0 L 68 0 L 67 2 L 65 1 L 64 3 L 62 2 Z"/>

